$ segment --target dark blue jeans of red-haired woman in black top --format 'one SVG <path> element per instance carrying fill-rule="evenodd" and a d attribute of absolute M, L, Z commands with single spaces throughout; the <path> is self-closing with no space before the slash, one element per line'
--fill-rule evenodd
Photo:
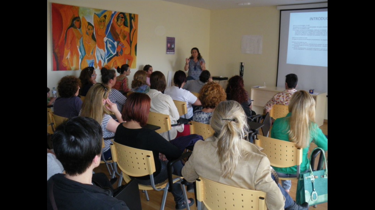
<path fill-rule="evenodd" d="M 154 176 L 155 184 L 159 184 L 161 182 L 164 182 L 166 179 L 168 179 L 168 172 L 167 172 L 168 161 L 161 161 L 160 159 L 159 159 L 159 161 L 162 164 L 162 168 L 160 169 L 160 173 L 157 174 L 156 176 Z M 182 167 L 183 167 L 183 165 L 182 165 L 181 161 L 176 162 L 173 165 L 173 168 L 172 168 L 173 172 L 172 173 L 177 175 L 177 176 L 182 176 L 181 175 Z M 138 183 L 140 183 L 142 185 L 151 185 L 150 180 L 141 180 L 141 179 L 137 179 L 137 180 L 138 180 Z M 184 202 L 184 195 L 183 195 L 180 184 L 178 184 L 178 183 L 173 184 L 173 189 L 172 189 L 171 193 L 174 197 L 174 202 L 176 204 Z"/>

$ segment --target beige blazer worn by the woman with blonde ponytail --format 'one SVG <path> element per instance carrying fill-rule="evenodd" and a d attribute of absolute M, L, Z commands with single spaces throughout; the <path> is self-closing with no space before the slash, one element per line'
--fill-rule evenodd
<path fill-rule="evenodd" d="M 243 140 L 245 156 L 239 161 L 230 178 L 221 176 L 219 158 L 216 154 L 216 137 L 195 143 L 193 153 L 182 168 L 182 176 L 195 182 L 199 176 L 222 184 L 266 192 L 266 206 L 270 210 L 284 210 L 285 198 L 271 177 L 270 161 L 252 143 Z"/>

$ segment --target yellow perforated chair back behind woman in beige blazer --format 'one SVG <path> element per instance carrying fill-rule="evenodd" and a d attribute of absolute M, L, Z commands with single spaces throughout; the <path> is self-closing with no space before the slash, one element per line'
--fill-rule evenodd
<path fill-rule="evenodd" d="M 236 188 L 203 177 L 196 179 L 195 185 L 198 210 L 202 210 L 202 203 L 208 210 L 267 210 L 263 191 Z"/>

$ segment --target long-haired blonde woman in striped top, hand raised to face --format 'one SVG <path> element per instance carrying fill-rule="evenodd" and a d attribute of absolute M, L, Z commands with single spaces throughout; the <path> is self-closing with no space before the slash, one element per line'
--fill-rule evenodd
<path fill-rule="evenodd" d="M 106 160 L 112 159 L 111 139 L 114 139 L 117 126 L 123 122 L 121 113 L 118 111 L 116 104 L 108 98 L 111 89 L 102 83 L 96 83 L 87 92 L 85 102 L 82 105 L 80 116 L 89 117 L 96 120 L 102 126 L 104 138 L 103 155 Z M 115 115 L 115 121 L 111 115 Z"/>

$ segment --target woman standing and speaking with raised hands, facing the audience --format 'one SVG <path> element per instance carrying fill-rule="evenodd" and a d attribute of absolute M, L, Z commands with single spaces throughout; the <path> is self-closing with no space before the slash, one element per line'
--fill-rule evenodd
<path fill-rule="evenodd" d="M 186 58 L 184 70 L 187 71 L 187 80 L 199 79 L 202 70 L 206 70 L 206 62 L 198 48 L 191 49 L 191 56 Z"/>

